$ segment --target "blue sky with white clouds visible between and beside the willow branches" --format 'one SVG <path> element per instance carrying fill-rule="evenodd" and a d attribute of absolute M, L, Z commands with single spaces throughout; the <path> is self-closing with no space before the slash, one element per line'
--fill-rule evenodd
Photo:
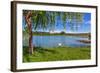
<path fill-rule="evenodd" d="M 74 23 L 74 21 L 73 21 Z M 25 25 L 25 20 L 23 19 L 23 27 Z M 76 27 L 76 26 L 74 26 Z M 62 26 L 62 22 L 59 19 L 59 17 L 57 17 L 56 19 L 56 23 L 55 23 L 55 32 L 61 32 L 63 31 L 64 28 Z M 33 29 L 34 31 L 34 29 Z M 45 31 L 48 32 L 49 29 L 46 30 L 42 30 L 42 29 L 38 29 L 37 31 Z M 91 32 L 91 13 L 83 13 L 83 22 L 81 24 L 79 24 L 78 29 L 77 30 L 71 30 L 70 24 L 66 23 L 66 33 L 88 33 Z"/>

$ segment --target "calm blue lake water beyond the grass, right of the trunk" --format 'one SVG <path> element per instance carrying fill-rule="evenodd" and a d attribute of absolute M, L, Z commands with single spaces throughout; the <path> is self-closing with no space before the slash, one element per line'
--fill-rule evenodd
<path fill-rule="evenodd" d="M 88 38 L 75 36 L 33 36 L 33 45 L 39 47 L 57 47 L 57 46 L 88 46 L 90 44 L 82 43 L 77 40 L 88 40 Z"/>

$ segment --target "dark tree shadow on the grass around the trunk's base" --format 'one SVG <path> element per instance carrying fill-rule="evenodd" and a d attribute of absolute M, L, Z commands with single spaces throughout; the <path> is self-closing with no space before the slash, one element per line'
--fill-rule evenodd
<path fill-rule="evenodd" d="M 34 50 L 33 50 L 34 53 L 32 55 L 30 55 L 28 50 L 29 50 L 29 47 L 27 47 L 27 46 L 23 47 L 23 56 L 24 56 L 23 62 L 25 62 L 25 61 L 31 62 L 32 57 L 38 56 L 37 53 L 40 54 L 43 57 L 48 53 L 51 53 L 51 54 L 57 53 L 57 51 L 52 50 L 52 49 L 46 49 L 46 48 L 42 48 L 42 47 L 34 47 Z"/>

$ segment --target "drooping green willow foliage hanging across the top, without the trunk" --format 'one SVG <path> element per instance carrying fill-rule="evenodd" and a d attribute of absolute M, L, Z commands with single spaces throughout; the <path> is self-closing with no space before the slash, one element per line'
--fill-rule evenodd
<path fill-rule="evenodd" d="M 23 16 L 25 16 L 28 11 L 29 10 L 23 10 Z M 79 12 L 55 12 L 55 11 L 38 11 L 38 10 L 37 11 L 31 10 L 31 12 L 32 12 L 32 24 L 33 24 L 32 26 L 34 30 L 40 28 L 42 28 L 43 30 L 47 28 L 49 30 L 54 30 L 57 16 L 60 17 L 60 20 L 62 21 L 61 25 L 64 27 L 65 31 L 67 23 L 70 24 L 70 28 L 72 30 L 74 28 L 74 25 L 78 26 L 78 24 L 81 24 L 83 20 L 83 13 Z M 73 23 L 73 21 L 75 23 Z"/>

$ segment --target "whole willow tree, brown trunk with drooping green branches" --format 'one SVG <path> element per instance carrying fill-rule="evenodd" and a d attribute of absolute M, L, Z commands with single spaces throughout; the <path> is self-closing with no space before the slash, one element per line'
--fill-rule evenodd
<path fill-rule="evenodd" d="M 73 13 L 73 12 L 53 12 L 53 11 L 34 11 L 34 10 L 24 10 L 23 15 L 25 16 L 25 21 L 27 24 L 27 30 L 29 34 L 29 54 L 34 53 L 34 45 L 32 43 L 32 30 L 36 29 L 55 29 L 56 17 L 59 16 L 60 20 L 63 22 L 62 26 L 66 30 L 66 21 L 68 21 L 73 26 L 73 20 L 78 24 L 82 22 L 83 14 L 82 13 Z"/>

